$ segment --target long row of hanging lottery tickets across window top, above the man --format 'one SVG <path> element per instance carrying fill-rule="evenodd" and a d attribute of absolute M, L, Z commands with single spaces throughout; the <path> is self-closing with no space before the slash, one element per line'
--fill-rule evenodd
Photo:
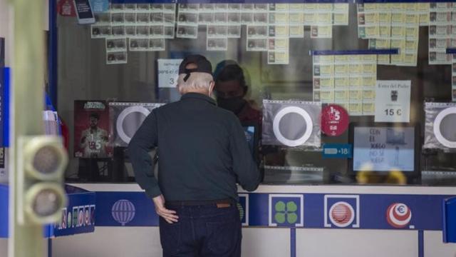
<path fill-rule="evenodd" d="M 348 4 L 111 4 L 95 20 L 90 33 L 106 40 L 107 64 L 127 63 L 127 49 L 164 51 L 165 39 L 197 39 L 199 26 L 207 26 L 207 51 L 227 51 L 247 26 L 247 51 L 289 64 L 289 39 L 304 38 L 304 26 L 312 39 L 331 39 L 333 26 L 348 26 Z"/>

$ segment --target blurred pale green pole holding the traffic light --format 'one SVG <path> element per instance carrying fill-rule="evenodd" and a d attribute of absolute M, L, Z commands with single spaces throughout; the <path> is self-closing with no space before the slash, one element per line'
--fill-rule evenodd
<path fill-rule="evenodd" d="M 14 61 L 11 83 L 9 257 L 43 256 L 43 226 L 17 221 L 17 138 L 43 134 L 43 0 L 14 0 Z"/>

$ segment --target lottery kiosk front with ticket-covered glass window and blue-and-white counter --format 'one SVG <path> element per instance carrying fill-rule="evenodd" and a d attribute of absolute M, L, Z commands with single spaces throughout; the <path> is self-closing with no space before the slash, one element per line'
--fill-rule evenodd
<path fill-rule="evenodd" d="M 254 2 L 112 0 L 92 6 L 94 24 L 60 10 L 51 86 L 70 128 L 66 179 L 100 205 L 95 233 L 57 239 L 54 253 L 126 255 L 96 245 L 118 240 L 160 256 L 157 216 L 123 154 L 128 124 L 177 101 L 180 60 L 202 54 L 242 67 L 232 104 L 262 117 L 244 124 L 264 171 L 256 192 L 239 192 L 244 256 L 454 256 L 441 204 L 456 194 L 456 3 Z M 95 120 L 96 151 L 80 154 Z"/>

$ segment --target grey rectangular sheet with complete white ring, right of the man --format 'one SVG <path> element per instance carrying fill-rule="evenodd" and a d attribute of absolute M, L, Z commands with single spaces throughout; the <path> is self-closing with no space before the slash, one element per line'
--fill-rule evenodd
<path fill-rule="evenodd" d="M 263 101 L 264 145 L 320 147 L 321 103 Z"/>

